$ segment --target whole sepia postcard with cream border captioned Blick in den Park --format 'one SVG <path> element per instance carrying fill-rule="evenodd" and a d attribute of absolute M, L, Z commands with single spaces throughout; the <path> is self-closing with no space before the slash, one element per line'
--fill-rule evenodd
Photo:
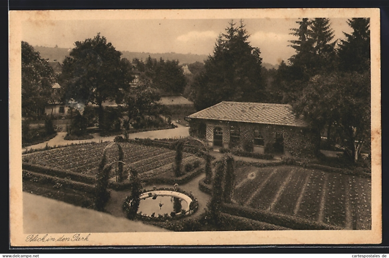
<path fill-rule="evenodd" d="M 11 246 L 382 241 L 379 9 L 9 12 Z"/>

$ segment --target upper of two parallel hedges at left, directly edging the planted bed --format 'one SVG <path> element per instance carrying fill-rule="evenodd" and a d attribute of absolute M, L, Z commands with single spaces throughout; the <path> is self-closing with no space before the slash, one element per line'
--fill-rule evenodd
<path fill-rule="evenodd" d="M 41 173 L 45 175 L 51 175 L 58 178 L 69 178 L 70 180 L 85 183 L 85 184 L 95 184 L 96 178 L 93 176 L 82 175 L 80 173 L 75 173 L 69 170 L 62 170 L 59 168 L 51 168 L 48 166 L 42 166 L 38 164 L 32 164 L 27 162 L 22 162 L 22 168 L 24 170 Z"/>

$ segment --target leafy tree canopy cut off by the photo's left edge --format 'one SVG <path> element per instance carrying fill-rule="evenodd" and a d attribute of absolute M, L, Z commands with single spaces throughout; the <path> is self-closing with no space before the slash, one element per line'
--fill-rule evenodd
<path fill-rule="evenodd" d="M 27 42 L 21 42 L 21 55 L 22 116 L 32 117 L 50 100 L 55 75 L 49 63 Z"/>

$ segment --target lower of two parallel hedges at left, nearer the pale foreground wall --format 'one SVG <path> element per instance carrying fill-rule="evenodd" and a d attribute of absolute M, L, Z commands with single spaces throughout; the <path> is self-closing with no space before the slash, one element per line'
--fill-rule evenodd
<path fill-rule="evenodd" d="M 68 178 L 58 178 L 55 176 L 44 175 L 41 173 L 35 173 L 32 171 L 23 170 L 23 179 L 30 179 L 33 181 L 39 181 L 44 184 L 53 184 L 53 187 L 65 187 L 74 190 L 81 190 L 87 193 L 95 193 L 95 185 L 84 184 Z"/>

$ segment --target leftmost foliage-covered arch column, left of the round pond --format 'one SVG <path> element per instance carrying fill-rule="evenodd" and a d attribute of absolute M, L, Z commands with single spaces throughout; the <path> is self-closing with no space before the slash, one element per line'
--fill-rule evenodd
<path fill-rule="evenodd" d="M 95 209 L 98 211 L 104 210 L 104 206 L 110 197 L 109 192 L 107 192 L 107 188 L 108 188 L 109 170 L 111 167 L 107 166 L 105 168 L 106 162 L 107 162 L 107 157 L 104 153 L 96 176 Z"/>

